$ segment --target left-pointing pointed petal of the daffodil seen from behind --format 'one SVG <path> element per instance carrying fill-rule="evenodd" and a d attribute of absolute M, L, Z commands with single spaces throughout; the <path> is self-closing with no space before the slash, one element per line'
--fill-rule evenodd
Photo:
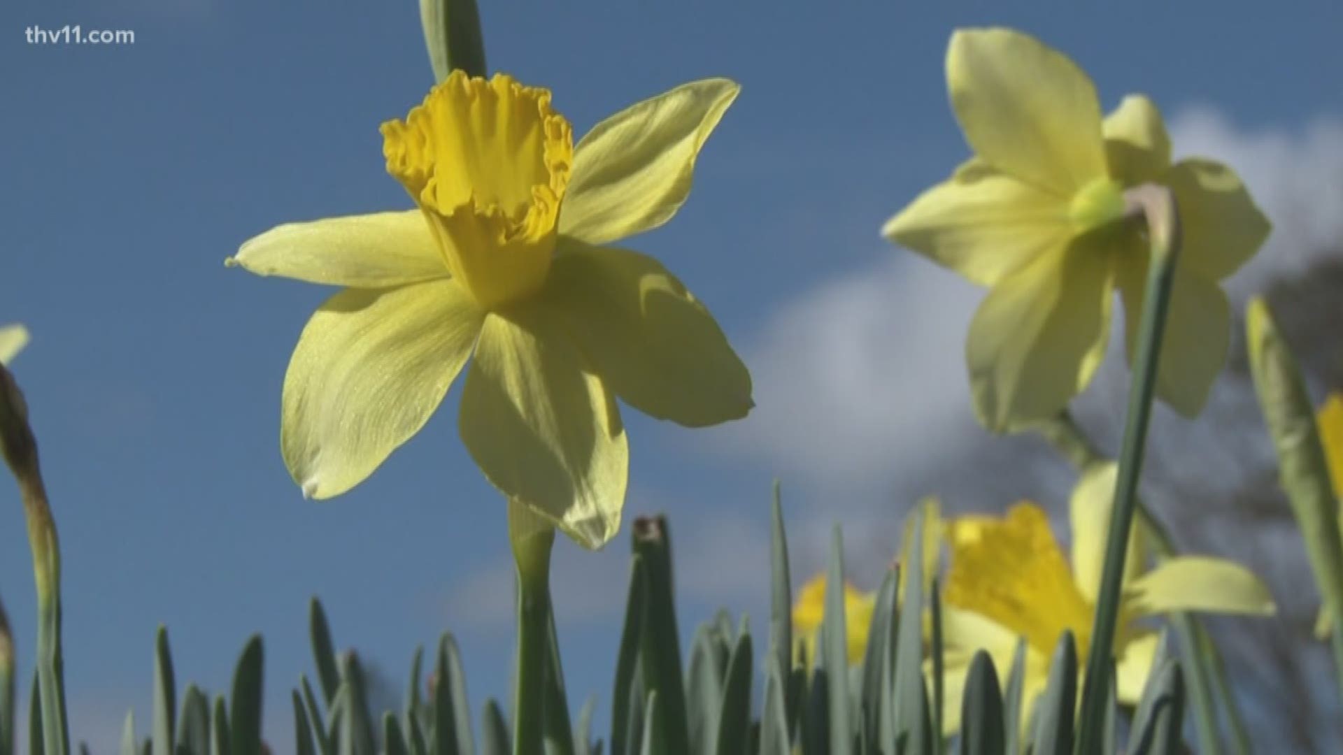
<path fill-rule="evenodd" d="M 900 246 L 992 286 L 1072 232 L 1068 203 L 974 161 L 919 195 L 881 234 Z"/>

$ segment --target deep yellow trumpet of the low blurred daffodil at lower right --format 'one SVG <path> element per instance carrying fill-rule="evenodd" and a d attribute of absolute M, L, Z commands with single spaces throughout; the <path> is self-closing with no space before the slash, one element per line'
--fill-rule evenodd
<path fill-rule="evenodd" d="M 984 615 L 1053 653 L 1073 631 L 1078 657 L 1091 643 L 1092 607 L 1034 504 L 1017 504 L 1005 519 L 952 523 L 947 602 Z"/>

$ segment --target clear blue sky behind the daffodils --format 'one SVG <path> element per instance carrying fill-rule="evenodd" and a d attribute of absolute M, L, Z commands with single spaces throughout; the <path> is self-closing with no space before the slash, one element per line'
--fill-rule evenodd
<path fill-rule="evenodd" d="M 1226 137 L 1217 144 L 1268 149 L 1280 138 L 1289 154 L 1308 154 L 1292 149 L 1343 117 L 1335 3 L 1277 12 L 1249 1 L 482 4 L 492 69 L 551 87 L 576 132 L 689 79 L 741 83 L 690 202 L 631 246 L 708 302 L 753 368 L 759 355 L 774 371 L 757 369 L 761 386 L 778 386 L 790 359 L 829 359 L 788 348 L 788 322 L 821 317 L 808 302 L 843 300 L 846 279 L 870 286 L 872 270 L 888 275 L 877 281 L 904 274 L 905 262 L 892 262 L 904 253 L 877 228 L 966 153 L 941 69 L 956 27 L 1030 31 L 1077 59 L 1107 107 L 1146 91 L 1168 114 L 1187 113 L 1189 133 Z M 64 24 L 134 30 L 136 43 L 24 40 L 27 26 Z M 11 0 L 0 38 L 0 322 L 24 321 L 34 335 L 15 368 L 60 524 L 77 736 L 106 751 L 128 707 L 148 720 L 163 622 L 179 674 L 216 691 L 246 637 L 265 633 L 267 732 L 287 751 L 286 697 L 310 668 L 313 594 L 338 643 L 398 685 L 414 646 L 451 627 L 474 703 L 504 695 L 504 508 L 457 441 L 458 391 L 368 482 L 330 502 L 302 500 L 279 458 L 279 387 L 299 330 L 330 292 L 223 266 L 277 223 L 408 207 L 384 172 L 377 125 L 404 116 L 431 83 L 415 4 Z M 898 325 L 941 332 L 917 318 Z M 959 339 L 928 345 L 945 365 L 933 378 L 958 391 Z M 896 353 L 889 364 L 904 363 Z M 665 509 L 685 533 L 684 631 L 723 601 L 763 627 L 770 481 L 791 485 L 798 458 L 763 438 L 790 427 L 796 407 L 766 398 L 794 395 L 813 411 L 843 398 L 757 391 L 752 418 L 708 431 L 626 412 L 629 516 Z M 873 560 L 889 555 L 908 505 L 889 498 L 889 481 L 796 474 L 804 478 L 787 489 L 798 490 L 790 510 L 799 521 L 861 513 L 874 524 L 857 547 Z M 0 596 L 31 669 L 28 549 L 17 496 L 0 486 L 4 508 Z M 802 537 L 804 570 L 818 562 Z M 599 555 L 568 544 L 557 555 L 575 707 L 604 693 L 614 670 L 626 549 L 622 536 Z"/>

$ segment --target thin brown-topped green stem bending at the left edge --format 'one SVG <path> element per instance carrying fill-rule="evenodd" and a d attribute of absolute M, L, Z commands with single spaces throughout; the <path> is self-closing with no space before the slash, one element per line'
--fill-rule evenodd
<path fill-rule="evenodd" d="M 32 548 L 32 578 L 38 588 L 38 691 L 46 755 L 66 755 L 64 661 L 60 650 L 60 544 L 38 463 L 38 442 L 28 426 L 28 404 L 13 376 L 0 367 L 0 446 L 19 482 Z"/>

